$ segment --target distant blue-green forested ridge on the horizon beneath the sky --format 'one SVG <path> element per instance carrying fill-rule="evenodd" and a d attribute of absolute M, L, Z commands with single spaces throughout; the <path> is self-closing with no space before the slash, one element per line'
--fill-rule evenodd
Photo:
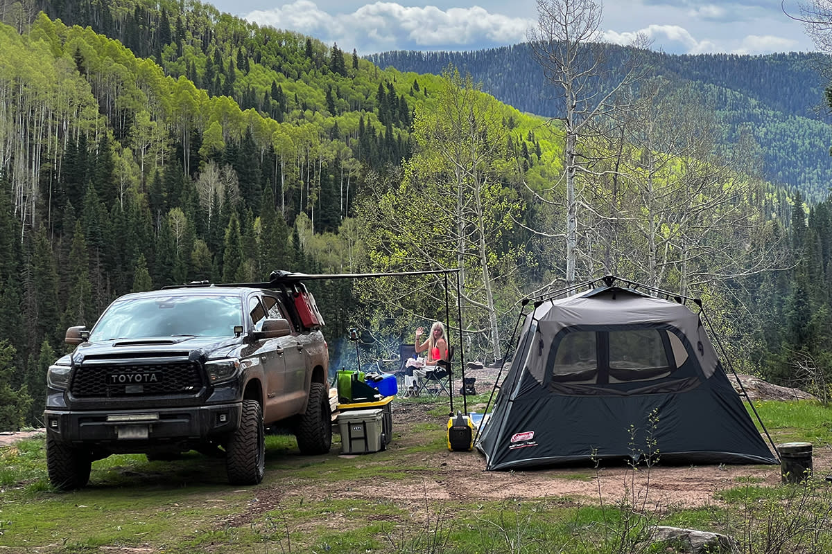
<path fill-rule="evenodd" d="M 607 46 L 611 74 L 626 49 Z M 808 199 L 826 198 L 832 182 L 832 127 L 820 70 L 828 66 L 820 53 L 775 53 L 765 56 L 733 54 L 669 55 L 643 51 L 646 76 L 662 76 L 706 94 L 724 125 L 723 145 L 736 142 L 750 130 L 763 154 L 763 174 L 773 183 L 800 190 Z M 518 110 L 557 117 L 556 92 L 545 86 L 540 66 L 527 44 L 481 51 L 390 51 L 368 56 L 381 67 L 400 71 L 438 73 L 448 64 L 468 71 L 483 83 L 483 91 Z"/>

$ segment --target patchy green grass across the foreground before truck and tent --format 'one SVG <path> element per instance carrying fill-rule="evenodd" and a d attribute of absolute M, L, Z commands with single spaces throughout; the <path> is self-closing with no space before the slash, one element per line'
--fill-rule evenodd
<path fill-rule="evenodd" d="M 488 395 L 479 396 L 484 402 Z M 186 453 L 151 463 L 130 454 L 93 463 L 88 488 L 55 493 L 43 439 L 18 442 L 0 449 L 0 551 L 636 554 L 651 552 L 641 543 L 649 527 L 665 524 L 726 532 L 740 539 L 742 552 L 832 552 L 832 491 L 820 481 L 767 487 L 762 478 L 737 478 L 713 506 L 696 509 L 631 506 L 627 499 L 636 497 L 624 480 L 613 502 L 549 498 L 545 490 L 528 500 L 463 502 L 455 493 L 456 473 L 437 479 L 436 464 L 425 462 L 448 456 L 448 398 L 406 402 L 427 410 L 429 420 L 399 428 L 394 408 L 394 442 L 379 453 L 341 456 L 335 434 L 331 453 L 304 457 L 293 436 L 268 435 L 265 481 L 258 487 L 229 487 L 222 458 Z M 777 442 L 820 446 L 832 438 L 832 412 L 820 404 L 763 402 L 758 410 Z M 592 468 L 572 468 L 553 478 L 594 477 Z M 413 488 L 421 478 L 426 491 L 429 485 L 440 494 L 419 498 Z M 389 494 L 368 498 L 373 486 Z M 399 487 L 409 493 L 397 495 Z M 780 551 L 771 547 L 775 540 L 782 542 Z"/>

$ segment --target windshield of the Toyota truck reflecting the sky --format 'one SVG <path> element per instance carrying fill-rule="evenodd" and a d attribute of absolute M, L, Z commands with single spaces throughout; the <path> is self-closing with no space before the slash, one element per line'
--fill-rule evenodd
<path fill-rule="evenodd" d="M 240 298 L 174 296 L 116 300 L 90 334 L 90 341 L 150 336 L 234 336 L 242 325 Z"/>

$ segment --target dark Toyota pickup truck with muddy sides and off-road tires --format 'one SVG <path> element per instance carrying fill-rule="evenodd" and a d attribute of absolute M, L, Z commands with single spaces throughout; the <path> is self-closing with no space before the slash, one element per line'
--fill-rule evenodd
<path fill-rule="evenodd" d="M 274 275 L 274 274 L 273 274 Z M 47 466 L 81 488 L 111 453 L 225 455 L 230 483 L 260 483 L 265 429 L 329 452 L 323 320 L 301 283 L 191 284 L 116 299 L 47 374 Z"/>

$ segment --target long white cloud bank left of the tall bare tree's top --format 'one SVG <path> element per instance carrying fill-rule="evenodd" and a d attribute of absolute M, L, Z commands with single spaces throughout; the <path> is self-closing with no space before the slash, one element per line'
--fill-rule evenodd
<path fill-rule="evenodd" d="M 491 13 L 483 7 L 404 7 L 375 2 L 352 13 L 329 14 L 310 0 L 250 12 L 245 19 L 338 42 L 360 53 L 393 49 L 478 49 L 526 39 L 531 19 Z"/>

